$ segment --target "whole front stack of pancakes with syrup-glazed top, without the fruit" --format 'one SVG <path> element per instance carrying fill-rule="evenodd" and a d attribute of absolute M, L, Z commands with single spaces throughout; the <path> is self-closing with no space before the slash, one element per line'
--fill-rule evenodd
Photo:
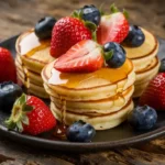
<path fill-rule="evenodd" d="M 96 130 L 119 125 L 133 109 L 135 74 L 127 59 L 118 69 L 101 68 L 95 73 L 61 73 L 46 65 L 42 72 L 44 87 L 51 98 L 56 119 L 66 125 L 82 120 Z"/>

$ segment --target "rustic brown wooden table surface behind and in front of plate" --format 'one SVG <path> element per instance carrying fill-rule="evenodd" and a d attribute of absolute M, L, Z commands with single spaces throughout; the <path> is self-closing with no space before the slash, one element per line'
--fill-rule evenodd
<path fill-rule="evenodd" d="M 85 4 L 103 4 L 109 10 L 111 0 L 6 0 L 0 1 L 0 40 L 6 40 L 34 26 L 45 16 L 59 19 Z M 116 0 L 119 8 L 130 13 L 130 22 L 141 25 L 157 36 L 165 37 L 165 1 Z M 165 139 L 156 139 L 136 146 L 99 153 L 64 153 L 42 151 L 11 142 L 0 136 L 1 165 L 164 165 Z"/>

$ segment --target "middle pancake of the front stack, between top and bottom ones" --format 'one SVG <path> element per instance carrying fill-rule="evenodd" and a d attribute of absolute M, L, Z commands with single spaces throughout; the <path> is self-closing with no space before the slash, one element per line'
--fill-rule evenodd
<path fill-rule="evenodd" d="M 86 101 L 75 101 L 75 100 L 65 100 L 65 105 L 67 110 L 77 112 L 77 113 L 108 113 L 120 110 L 127 102 L 130 100 L 132 94 L 134 91 L 134 87 L 131 86 L 125 91 L 114 97 L 110 97 L 107 99 L 99 100 L 86 100 Z M 55 98 L 51 96 L 52 102 L 56 105 L 58 109 L 64 103 L 64 100 L 61 98 Z"/>

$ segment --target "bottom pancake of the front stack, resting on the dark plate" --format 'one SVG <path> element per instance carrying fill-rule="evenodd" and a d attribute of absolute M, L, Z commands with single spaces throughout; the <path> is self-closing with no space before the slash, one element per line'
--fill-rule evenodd
<path fill-rule="evenodd" d="M 121 110 L 97 117 L 72 113 L 67 110 L 63 114 L 62 111 L 51 102 L 51 110 L 58 121 L 65 122 L 66 125 L 70 125 L 74 121 L 81 119 L 82 121 L 90 123 L 96 130 L 107 130 L 119 125 L 127 120 L 128 113 L 132 109 L 133 101 L 130 100 Z"/>

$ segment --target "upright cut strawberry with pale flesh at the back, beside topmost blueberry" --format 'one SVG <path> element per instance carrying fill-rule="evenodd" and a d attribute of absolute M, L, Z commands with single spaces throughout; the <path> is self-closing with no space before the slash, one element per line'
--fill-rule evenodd
<path fill-rule="evenodd" d="M 124 13 L 119 12 L 117 7 L 112 6 L 110 15 L 102 15 L 97 31 L 98 43 L 103 45 L 108 42 L 121 43 L 129 33 L 129 22 Z"/>

